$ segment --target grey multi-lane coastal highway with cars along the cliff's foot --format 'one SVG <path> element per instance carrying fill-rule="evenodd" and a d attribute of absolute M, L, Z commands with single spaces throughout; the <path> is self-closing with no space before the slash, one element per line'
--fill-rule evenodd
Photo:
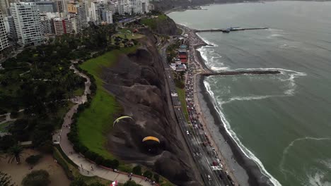
<path fill-rule="evenodd" d="M 192 125 L 189 125 L 185 120 L 185 115 L 182 111 L 182 107 L 180 104 L 180 99 L 177 94 L 177 90 L 175 87 L 175 82 L 173 80 L 173 75 L 171 72 L 171 68 L 168 65 L 167 57 L 165 50 L 168 47 L 168 43 L 165 44 L 161 48 L 161 57 L 163 60 L 163 66 L 165 70 L 165 77 L 167 78 L 168 87 L 170 89 L 171 99 L 173 101 L 173 107 L 175 111 L 175 115 L 178 120 L 178 124 L 180 125 L 180 130 L 185 137 L 185 141 L 187 142 L 187 146 L 189 147 L 191 153 L 193 154 L 193 159 L 197 164 L 197 168 L 200 171 L 202 179 L 204 180 L 205 185 L 228 185 L 228 182 L 224 182 L 226 179 L 221 179 L 219 174 L 222 174 L 222 178 L 226 178 L 226 175 L 223 175 L 221 171 L 213 171 L 211 166 L 213 161 L 216 161 L 216 157 L 212 154 L 212 151 L 207 151 L 203 146 L 203 137 L 201 134 L 194 135 L 195 131 L 192 128 Z M 187 132 L 189 134 L 187 135 Z"/>

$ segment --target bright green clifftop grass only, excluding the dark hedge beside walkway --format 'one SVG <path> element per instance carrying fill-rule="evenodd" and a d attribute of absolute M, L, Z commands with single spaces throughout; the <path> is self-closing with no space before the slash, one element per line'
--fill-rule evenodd
<path fill-rule="evenodd" d="M 95 77 L 97 90 L 95 97 L 91 101 L 91 106 L 85 109 L 78 119 L 79 140 L 100 156 L 108 159 L 114 157 L 106 149 L 106 134 L 111 130 L 112 123 L 115 120 L 114 114 L 120 111 L 120 105 L 111 94 L 103 87 L 103 80 L 100 73 L 103 67 L 110 67 L 115 64 L 120 54 L 128 54 L 136 51 L 137 46 L 110 51 L 103 56 L 90 59 L 81 64 L 81 68 Z"/>

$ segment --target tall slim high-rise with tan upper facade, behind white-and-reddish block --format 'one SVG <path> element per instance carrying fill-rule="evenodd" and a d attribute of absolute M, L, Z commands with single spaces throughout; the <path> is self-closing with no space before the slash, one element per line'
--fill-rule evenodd
<path fill-rule="evenodd" d="M 86 3 L 70 3 L 68 4 L 69 19 L 75 24 L 74 30 L 76 33 L 81 32 L 88 27 Z"/>

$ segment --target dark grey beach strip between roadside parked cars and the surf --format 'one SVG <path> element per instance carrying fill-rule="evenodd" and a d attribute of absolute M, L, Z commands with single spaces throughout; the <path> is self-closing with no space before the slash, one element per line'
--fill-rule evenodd
<path fill-rule="evenodd" d="M 194 61 L 198 64 L 199 68 L 202 68 L 199 72 L 194 73 L 195 82 L 197 84 L 195 89 L 197 94 L 196 105 L 199 106 L 199 110 L 202 111 L 202 118 L 207 120 L 207 122 L 204 123 L 206 124 L 209 135 L 211 135 L 212 144 L 217 147 L 216 149 L 220 149 L 221 157 L 225 159 L 225 169 L 228 168 L 228 171 L 231 172 L 230 174 L 233 175 L 240 185 L 273 185 L 269 178 L 262 173 L 257 163 L 246 156 L 233 137 L 228 134 L 221 120 L 221 116 L 219 116 L 214 106 L 214 100 L 204 86 L 204 80 L 209 75 L 205 75 L 201 71 L 208 73 L 214 73 L 214 71 L 208 68 L 205 63 L 206 61 L 204 61 L 198 49 L 202 46 L 210 46 L 210 44 L 204 42 L 194 30 L 184 25 L 180 26 L 192 32 L 195 39 L 199 40 L 199 43 L 193 46 Z M 223 139 L 218 139 L 220 134 Z"/>

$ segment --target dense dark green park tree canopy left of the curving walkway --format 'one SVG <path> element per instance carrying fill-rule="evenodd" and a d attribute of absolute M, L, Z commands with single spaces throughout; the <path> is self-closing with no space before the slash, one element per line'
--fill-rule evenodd
<path fill-rule="evenodd" d="M 10 112 L 11 118 L 18 119 L 7 124 L 12 135 L 0 139 L 0 151 L 28 140 L 34 147 L 51 149 L 52 132 L 60 128 L 72 106 L 69 99 L 83 92 L 85 79 L 70 69 L 71 62 L 117 48 L 112 45 L 114 33 L 114 25 L 88 27 L 80 34 L 62 35 L 48 44 L 25 49 L 1 64 L 0 114 Z"/>

